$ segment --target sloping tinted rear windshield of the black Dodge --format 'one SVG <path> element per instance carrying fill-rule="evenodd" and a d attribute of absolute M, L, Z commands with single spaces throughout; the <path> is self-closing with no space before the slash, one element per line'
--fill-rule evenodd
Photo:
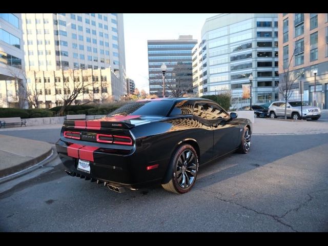
<path fill-rule="evenodd" d="M 173 101 L 135 101 L 124 105 L 107 116 L 140 115 L 140 116 L 167 116 L 173 106 Z"/>

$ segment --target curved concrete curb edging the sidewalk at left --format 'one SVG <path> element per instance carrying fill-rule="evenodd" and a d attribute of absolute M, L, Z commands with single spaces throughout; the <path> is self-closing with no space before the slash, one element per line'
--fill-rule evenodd
<path fill-rule="evenodd" d="M 18 172 L 22 172 L 24 170 L 27 169 L 31 169 L 29 170 L 30 172 L 32 172 L 34 169 L 39 168 L 38 164 L 44 160 L 47 160 L 49 157 L 51 157 L 55 152 L 53 150 L 54 147 L 52 147 L 50 150 L 48 150 L 46 153 L 39 155 L 38 157 L 25 161 L 23 163 L 20 163 L 17 166 L 14 167 L 10 167 L 7 169 L 4 169 L 1 171 L 1 175 L 0 175 L 0 183 L 3 183 L 7 180 L 8 177 L 11 177 L 12 175 L 18 173 Z M 35 168 L 34 168 L 35 167 Z M 22 172 L 22 175 L 25 174 L 26 172 Z M 22 176 L 19 175 L 19 176 Z M 15 175 L 15 177 L 17 177 Z"/>

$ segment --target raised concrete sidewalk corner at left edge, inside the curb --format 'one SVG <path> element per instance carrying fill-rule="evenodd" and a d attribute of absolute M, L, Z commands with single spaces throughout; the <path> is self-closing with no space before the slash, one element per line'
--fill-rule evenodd
<path fill-rule="evenodd" d="M 52 147 L 47 142 L 0 135 L 0 182 L 51 156 Z"/>

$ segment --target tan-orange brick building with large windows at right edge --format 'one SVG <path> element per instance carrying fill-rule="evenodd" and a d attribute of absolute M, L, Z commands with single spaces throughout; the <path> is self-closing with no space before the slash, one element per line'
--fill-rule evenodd
<path fill-rule="evenodd" d="M 286 72 L 297 76 L 290 99 L 300 99 L 310 105 L 328 109 L 328 14 L 285 13 L 279 20 L 279 77 Z M 315 83 L 316 81 L 316 83 Z M 315 85 L 316 84 L 316 85 Z M 282 99 L 282 94 L 279 94 Z"/>

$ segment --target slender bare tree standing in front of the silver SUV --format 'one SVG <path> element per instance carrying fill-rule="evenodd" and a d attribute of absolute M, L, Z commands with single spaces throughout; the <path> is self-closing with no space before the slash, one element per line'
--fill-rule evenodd
<path fill-rule="evenodd" d="M 280 79 L 279 83 L 279 93 L 282 94 L 283 99 L 285 101 L 285 119 L 287 118 L 287 102 L 288 99 L 292 96 L 293 94 L 293 88 L 296 80 L 298 80 L 303 74 L 304 74 L 304 69 L 299 69 L 297 71 L 293 70 L 291 71 L 291 64 L 293 57 L 295 56 L 295 53 L 300 49 L 300 47 L 296 47 L 293 51 L 293 54 L 291 58 L 288 61 L 287 66 L 283 66 L 283 75 Z"/>

